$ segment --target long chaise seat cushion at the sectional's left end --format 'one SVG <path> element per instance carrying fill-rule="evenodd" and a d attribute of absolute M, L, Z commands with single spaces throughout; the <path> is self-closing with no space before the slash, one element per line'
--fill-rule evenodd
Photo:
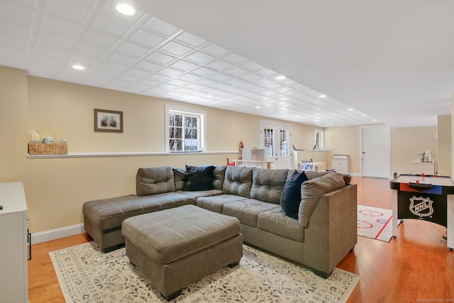
<path fill-rule="evenodd" d="M 101 231 L 118 228 L 124 219 L 162 209 L 187 204 L 196 204 L 196 199 L 176 192 L 138 197 L 133 194 L 123 197 L 85 202 L 82 212 Z"/>

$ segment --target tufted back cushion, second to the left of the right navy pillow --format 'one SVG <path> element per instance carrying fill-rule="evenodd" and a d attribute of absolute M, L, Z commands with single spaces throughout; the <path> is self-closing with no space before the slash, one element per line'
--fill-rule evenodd
<path fill-rule="evenodd" d="M 253 182 L 253 167 L 228 166 L 222 191 L 224 194 L 236 194 L 249 198 Z"/>

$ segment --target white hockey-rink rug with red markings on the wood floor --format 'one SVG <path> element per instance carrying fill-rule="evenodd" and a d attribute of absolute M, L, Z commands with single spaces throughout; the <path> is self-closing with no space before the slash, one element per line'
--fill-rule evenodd
<path fill-rule="evenodd" d="M 358 205 L 358 236 L 389 242 L 392 238 L 392 210 Z"/>

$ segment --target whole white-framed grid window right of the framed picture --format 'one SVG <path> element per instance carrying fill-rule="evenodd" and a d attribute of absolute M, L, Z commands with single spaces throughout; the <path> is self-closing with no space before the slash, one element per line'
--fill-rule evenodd
<path fill-rule="evenodd" d="M 205 111 L 166 106 L 166 151 L 199 152 L 205 149 Z"/>

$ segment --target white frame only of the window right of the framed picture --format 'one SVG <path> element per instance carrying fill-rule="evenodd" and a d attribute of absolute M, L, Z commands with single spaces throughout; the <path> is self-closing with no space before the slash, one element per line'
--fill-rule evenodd
<path fill-rule="evenodd" d="M 200 125 L 199 125 L 199 150 L 182 150 L 182 151 L 172 151 L 170 150 L 169 142 L 170 142 L 170 114 L 182 114 L 182 115 L 191 115 L 196 116 L 199 118 Z M 206 151 L 206 111 L 201 109 L 190 109 L 186 107 L 179 107 L 179 106 L 172 106 L 172 105 L 165 105 L 165 151 L 166 153 L 194 153 L 194 152 L 203 152 Z"/>

